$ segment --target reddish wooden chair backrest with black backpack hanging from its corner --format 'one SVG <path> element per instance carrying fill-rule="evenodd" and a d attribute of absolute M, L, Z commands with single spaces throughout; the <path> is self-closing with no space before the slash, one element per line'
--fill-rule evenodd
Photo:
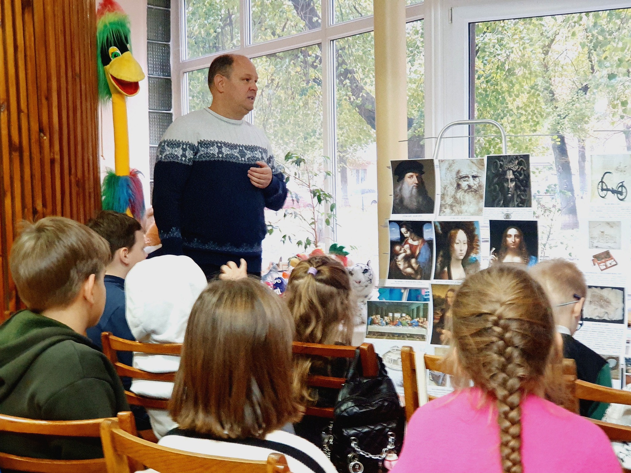
<path fill-rule="evenodd" d="M 377 354 L 372 343 L 362 343 L 359 347 L 342 345 L 321 345 L 318 343 L 293 342 L 293 354 L 309 356 L 327 356 L 328 358 L 355 358 L 355 351 L 359 349 L 362 363 L 362 375 L 374 378 L 379 374 Z M 307 385 L 310 387 L 341 389 L 346 378 L 309 375 Z M 333 419 L 333 407 L 307 407 L 307 416 Z"/>

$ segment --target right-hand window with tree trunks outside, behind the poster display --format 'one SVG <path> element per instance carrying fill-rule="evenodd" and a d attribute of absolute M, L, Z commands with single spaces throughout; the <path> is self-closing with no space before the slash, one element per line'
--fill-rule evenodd
<path fill-rule="evenodd" d="M 631 9 L 473 23 L 471 38 L 475 116 L 532 156 L 541 256 L 575 258 L 589 156 L 631 151 Z M 499 145 L 480 137 L 475 155 Z"/>

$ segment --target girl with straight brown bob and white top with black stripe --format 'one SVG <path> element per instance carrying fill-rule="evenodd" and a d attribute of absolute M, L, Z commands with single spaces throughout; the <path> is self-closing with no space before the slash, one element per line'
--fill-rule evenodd
<path fill-rule="evenodd" d="M 336 473 L 324 453 L 281 431 L 300 417 L 292 317 L 256 279 L 212 281 L 191 310 L 165 447 L 242 460 L 285 455 L 292 473 Z"/>

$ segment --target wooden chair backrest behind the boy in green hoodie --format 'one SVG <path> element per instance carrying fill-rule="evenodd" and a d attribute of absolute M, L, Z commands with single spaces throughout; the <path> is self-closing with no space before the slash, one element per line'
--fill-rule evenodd
<path fill-rule="evenodd" d="M 104 419 L 86 421 L 36 421 L 0 414 L 0 431 L 18 434 L 38 434 L 68 437 L 99 437 Z M 136 423 L 131 412 L 119 412 L 117 425 L 127 435 L 136 435 Z M 35 473 L 105 473 L 105 459 L 93 460 L 47 460 L 44 458 L 20 457 L 0 453 L 0 470 L 18 470 Z"/>

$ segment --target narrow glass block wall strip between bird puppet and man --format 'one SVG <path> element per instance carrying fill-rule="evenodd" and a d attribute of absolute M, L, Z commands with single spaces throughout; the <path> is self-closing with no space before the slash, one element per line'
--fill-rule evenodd
<path fill-rule="evenodd" d="M 149 78 L 149 179 L 160 137 L 173 121 L 171 88 L 171 0 L 147 0 L 147 69 Z"/>

